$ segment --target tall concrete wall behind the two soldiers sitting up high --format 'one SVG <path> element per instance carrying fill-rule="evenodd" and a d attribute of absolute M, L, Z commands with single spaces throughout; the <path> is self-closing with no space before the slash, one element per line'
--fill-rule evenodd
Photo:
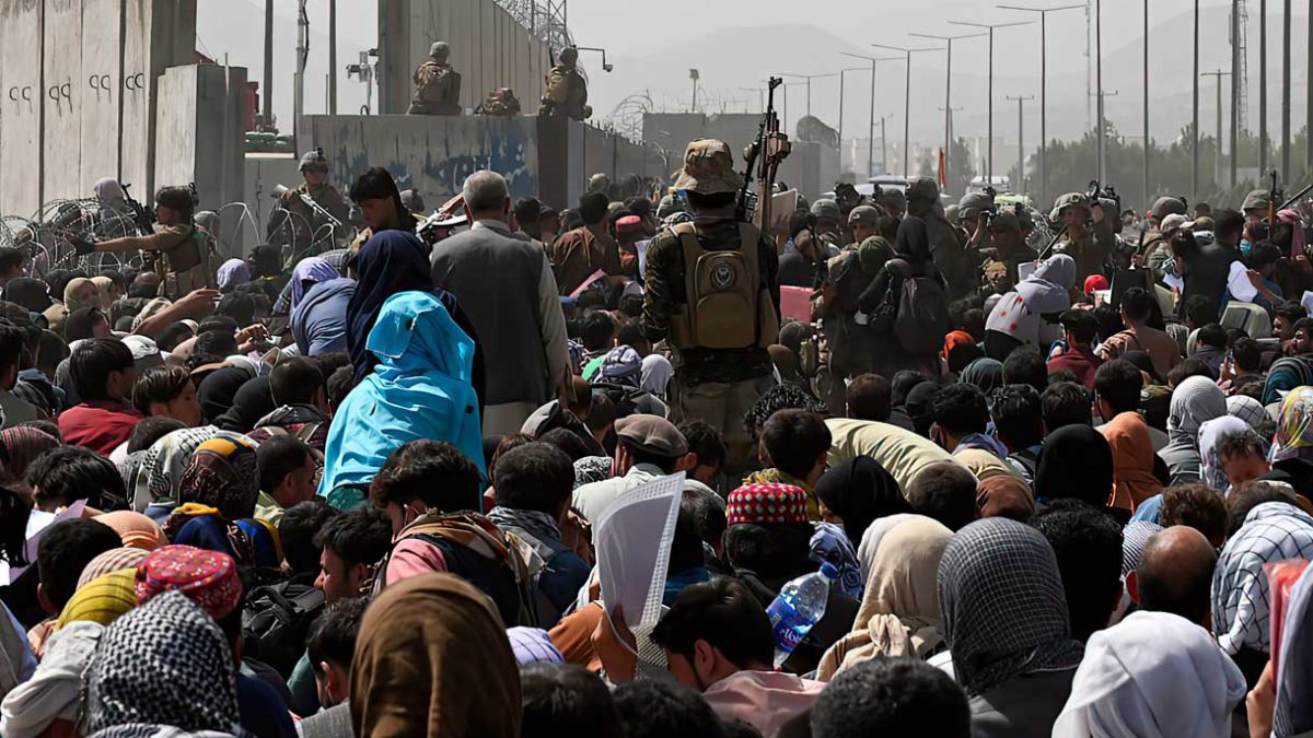
<path fill-rule="evenodd" d="M 494 0 L 387 0 L 378 4 L 382 113 L 406 113 L 415 67 L 428 58 L 435 41 L 452 46 L 462 106 L 474 109 L 492 89 L 509 87 L 527 113 L 537 110 L 551 68 L 548 45 Z"/>

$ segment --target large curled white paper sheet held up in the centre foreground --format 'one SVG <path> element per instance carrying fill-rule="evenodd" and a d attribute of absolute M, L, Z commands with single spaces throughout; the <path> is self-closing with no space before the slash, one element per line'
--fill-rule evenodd
<path fill-rule="evenodd" d="M 593 546 L 601 601 L 608 615 L 622 605 L 625 621 L 635 632 L 655 626 L 660 619 L 683 491 L 683 473 L 654 479 L 625 492 L 596 523 Z"/>

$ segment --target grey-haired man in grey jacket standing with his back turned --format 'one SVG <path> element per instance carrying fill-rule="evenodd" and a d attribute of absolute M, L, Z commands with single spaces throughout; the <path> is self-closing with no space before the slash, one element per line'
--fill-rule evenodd
<path fill-rule="evenodd" d="M 433 282 L 456 295 L 484 356 L 483 433 L 517 433 L 570 386 L 566 322 L 542 244 L 508 225 L 511 196 L 496 172 L 465 180 L 470 230 L 433 247 Z"/>

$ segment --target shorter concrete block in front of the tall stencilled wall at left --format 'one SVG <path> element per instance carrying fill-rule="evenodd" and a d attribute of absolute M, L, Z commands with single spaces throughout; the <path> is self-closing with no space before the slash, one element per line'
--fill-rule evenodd
<path fill-rule="evenodd" d="M 198 210 L 219 210 L 244 197 L 246 70 L 172 67 L 159 80 L 155 181 L 196 183 Z"/>

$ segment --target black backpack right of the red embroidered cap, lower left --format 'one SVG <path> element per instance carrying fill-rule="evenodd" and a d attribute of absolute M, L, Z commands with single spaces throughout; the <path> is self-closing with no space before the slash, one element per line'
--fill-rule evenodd
<path fill-rule="evenodd" d="M 261 661 L 284 679 L 306 651 L 310 625 L 324 609 L 324 592 L 295 580 L 256 587 L 242 608 L 242 654 Z"/>

